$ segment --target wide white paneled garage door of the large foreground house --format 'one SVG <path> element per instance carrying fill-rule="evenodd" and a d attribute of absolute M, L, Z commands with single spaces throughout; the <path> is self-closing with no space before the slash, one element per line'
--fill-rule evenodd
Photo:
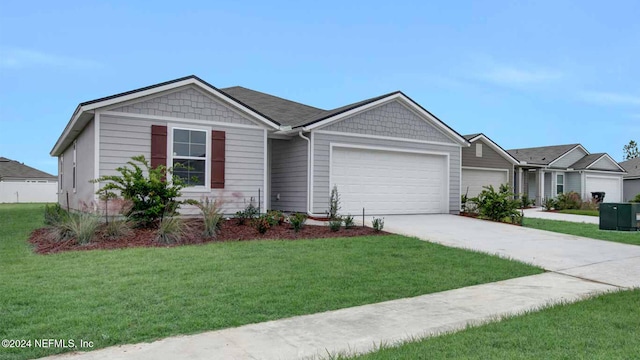
<path fill-rule="evenodd" d="M 334 147 L 331 187 L 338 186 L 343 214 L 448 212 L 443 155 Z"/>

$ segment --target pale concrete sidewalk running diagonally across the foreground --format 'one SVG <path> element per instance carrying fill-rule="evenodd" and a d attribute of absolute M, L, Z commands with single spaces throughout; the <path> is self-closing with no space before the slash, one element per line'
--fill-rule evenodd
<path fill-rule="evenodd" d="M 303 359 L 367 352 L 501 316 L 574 302 L 615 286 L 544 273 L 414 298 L 46 359 Z"/>

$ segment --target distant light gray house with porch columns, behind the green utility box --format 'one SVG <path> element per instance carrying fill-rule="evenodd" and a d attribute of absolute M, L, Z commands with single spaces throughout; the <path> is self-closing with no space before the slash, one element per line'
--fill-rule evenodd
<path fill-rule="evenodd" d="M 542 146 L 507 151 L 518 159 L 516 193 L 543 199 L 575 191 L 584 200 L 591 193 L 605 192 L 605 202 L 622 200 L 625 171 L 606 153 L 590 154 L 580 144 Z"/>

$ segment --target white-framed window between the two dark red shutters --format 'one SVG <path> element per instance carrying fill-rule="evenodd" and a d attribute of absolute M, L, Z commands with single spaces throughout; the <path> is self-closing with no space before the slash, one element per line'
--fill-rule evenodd
<path fill-rule="evenodd" d="M 205 186 L 207 131 L 173 129 L 173 175 L 187 186 Z"/>

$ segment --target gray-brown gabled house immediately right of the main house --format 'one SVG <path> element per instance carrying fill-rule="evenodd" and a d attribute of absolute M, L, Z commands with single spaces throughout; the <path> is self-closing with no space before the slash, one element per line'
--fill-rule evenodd
<path fill-rule="evenodd" d="M 471 146 L 462 149 L 462 194 L 477 196 L 485 186 L 507 184 L 514 189 L 519 161 L 484 134 L 464 136 Z"/>

